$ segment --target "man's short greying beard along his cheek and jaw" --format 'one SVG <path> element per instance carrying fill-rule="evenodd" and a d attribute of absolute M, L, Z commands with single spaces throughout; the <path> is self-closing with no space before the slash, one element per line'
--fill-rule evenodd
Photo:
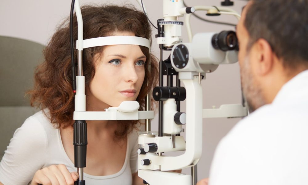
<path fill-rule="evenodd" d="M 245 57 L 244 64 L 241 67 L 241 84 L 242 91 L 247 100 L 249 112 L 253 112 L 266 104 L 265 98 L 262 96 L 262 89 L 253 78 L 251 66 L 247 56 Z"/>

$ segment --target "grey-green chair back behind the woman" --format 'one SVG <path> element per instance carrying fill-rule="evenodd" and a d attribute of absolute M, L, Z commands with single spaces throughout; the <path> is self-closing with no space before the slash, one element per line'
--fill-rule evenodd
<path fill-rule="evenodd" d="M 33 88 L 35 67 L 43 61 L 44 46 L 29 40 L 0 36 L 0 159 L 25 119 L 38 110 L 25 93 Z"/>

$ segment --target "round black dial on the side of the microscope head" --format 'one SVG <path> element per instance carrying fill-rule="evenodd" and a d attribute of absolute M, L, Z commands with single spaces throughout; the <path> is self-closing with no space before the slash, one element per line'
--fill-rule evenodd
<path fill-rule="evenodd" d="M 173 64 L 179 68 L 183 69 L 188 63 L 188 49 L 185 45 L 177 45 L 172 53 Z"/>

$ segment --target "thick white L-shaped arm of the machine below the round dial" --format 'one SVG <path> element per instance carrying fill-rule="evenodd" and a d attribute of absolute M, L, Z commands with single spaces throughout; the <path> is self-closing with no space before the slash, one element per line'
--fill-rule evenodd
<path fill-rule="evenodd" d="M 149 159 L 151 161 L 151 164 L 149 166 L 138 165 L 138 169 L 161 171 L 178 170 L 193 166 L 199 161 L 202 153 L 202 87 L 201 84 L 199 84 L 198 73 L 188 73 L 192 77 L 191 79 L 181 79 L 181 82 L 186 88 L 187 95 L 186 120 L 188 121 L 186 123 L 185 130 L 185 153 L 179 156 L 158 156 L 156 154 L 140 154 L 138 155 L 139 163 L 143 159 Z M 144 179 L 146 180 L 146 178 Z M 152 183 L 152 185 L 156 184 L 160 183 Z"/>

